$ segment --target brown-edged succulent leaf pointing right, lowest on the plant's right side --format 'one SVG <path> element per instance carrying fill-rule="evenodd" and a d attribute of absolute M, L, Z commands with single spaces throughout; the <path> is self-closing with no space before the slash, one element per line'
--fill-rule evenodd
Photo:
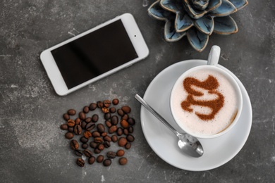
<path fill-rule="evenodd" d="M 217 34 L 233 34 L 238 32 L 238 26 L 231 16 L 214 18 L 214 32 Z"/>

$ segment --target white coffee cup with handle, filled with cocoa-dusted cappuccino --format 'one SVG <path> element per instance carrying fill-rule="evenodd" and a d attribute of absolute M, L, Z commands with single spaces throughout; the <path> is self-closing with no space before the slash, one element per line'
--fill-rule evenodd
<path fill-rule="evenodd" d="M 219 46 L 213 46 L 207 65 L 184 72 L 173 86 L 170 108 L 187 134 L 201 139 L 229 132 L 240 117 L 243 97 L 236 80 L 219 68 Z"/>

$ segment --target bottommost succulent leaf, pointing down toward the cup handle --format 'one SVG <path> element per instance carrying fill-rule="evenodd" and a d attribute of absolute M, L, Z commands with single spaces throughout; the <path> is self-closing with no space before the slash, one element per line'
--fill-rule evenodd
<path fill-rule="evenodd" d="M 207 46 L 209 35 L 204 34 L 195 28 L 187 31 L 187 38 L 191 46 L 199 52 L 203 51 Z"/>

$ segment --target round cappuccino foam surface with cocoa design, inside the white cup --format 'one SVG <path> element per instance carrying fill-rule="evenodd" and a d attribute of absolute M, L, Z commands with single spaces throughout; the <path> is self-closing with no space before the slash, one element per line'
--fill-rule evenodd
<path fill-rule="evenodd" d="M 189 88 L 187 80 L 193 82 Z M 238 113 L 236 96 L 231 82 L 218 71 L 195 70 L 175 86 L 171 108 L 173 115 L 190 132 L 212 135 L 226 130 L 235 119 Z"/>

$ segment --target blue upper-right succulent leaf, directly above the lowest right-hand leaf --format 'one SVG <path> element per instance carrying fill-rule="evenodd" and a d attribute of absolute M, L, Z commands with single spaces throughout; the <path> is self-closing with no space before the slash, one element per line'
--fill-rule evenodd
<path fill-rule="evenodd" d="M 214 11 L 211 11 L 210 13 L 211 15 L 221 17 L 221 16 L 230 15 L 232 13 L 235 13 L 236 11 L 237 11 L 237 8 L 233 4 L 231 4 L 230 1 L 222 0 L 221 6 L 214 9 Z"/>

